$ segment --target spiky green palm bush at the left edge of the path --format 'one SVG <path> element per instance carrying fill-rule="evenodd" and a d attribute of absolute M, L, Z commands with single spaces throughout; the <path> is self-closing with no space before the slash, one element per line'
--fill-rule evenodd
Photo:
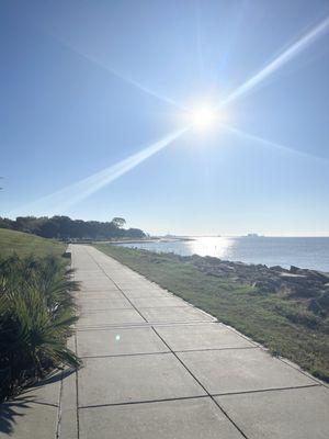
<path fill-rule="evenodd" d="M 56 367 L 80 364 L 66 346 L 77 318 L 70 277 L 55 257 L 0 262 L 0 399 Z"/>

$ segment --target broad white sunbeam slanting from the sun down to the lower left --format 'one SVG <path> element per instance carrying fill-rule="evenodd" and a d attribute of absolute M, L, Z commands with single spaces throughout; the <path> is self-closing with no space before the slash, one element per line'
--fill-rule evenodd
<path fill-rule="evenodd" d="M 151 146 L 141 149 L 139 153 L 110 166 L 92 176 L 89 176 L 76 183 L 72 183 L 57 192 L 43 196 L 20 209 L 9 213 L 10 217 L 33 213 L 34 215 L 55 215 L 66 212 L 70 206 L 81 202 L 92 193 L 99 191 L 112 181 L 124 176 L 136 166 L 163 149 L 166 146 L 181 137 L 190 127 L 185 126 L 172 134 L 167 135 Z"/>

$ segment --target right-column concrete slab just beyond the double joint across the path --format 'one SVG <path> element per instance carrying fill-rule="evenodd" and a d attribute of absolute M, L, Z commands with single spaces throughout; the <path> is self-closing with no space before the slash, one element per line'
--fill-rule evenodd
<path fill-rule="evenodd" d="M 143 308 L 140 314 L 151 323 L 214 322 L 215 318 L 192 306 Z"/>

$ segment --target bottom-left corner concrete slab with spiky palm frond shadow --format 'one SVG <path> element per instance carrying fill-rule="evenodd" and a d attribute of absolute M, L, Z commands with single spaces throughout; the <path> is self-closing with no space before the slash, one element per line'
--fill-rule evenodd
<path fill-rule="evenodd" d="M 14 439 L 54 439 L 58 407 L 32 403 L 21 396 L 0 406 L 0 437 Z"/>

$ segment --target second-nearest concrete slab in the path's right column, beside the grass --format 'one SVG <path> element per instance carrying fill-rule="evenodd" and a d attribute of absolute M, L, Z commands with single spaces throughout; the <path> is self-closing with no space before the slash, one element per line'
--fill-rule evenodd
<path fill-rule="evenodd" d="M 180 352 L 178 356 L 213 395 L 315 384 L 262 349 Z"/>

